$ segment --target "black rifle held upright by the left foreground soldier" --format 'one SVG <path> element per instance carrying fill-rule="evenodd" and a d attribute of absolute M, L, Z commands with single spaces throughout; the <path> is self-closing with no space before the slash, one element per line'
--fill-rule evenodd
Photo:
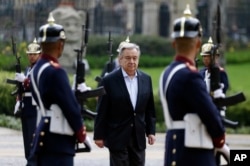
<path fill-rule="evenodd" d="M 85 64 L 83 63 L 83 53 L 86 53 L 87 44 L 88 44 L 88 31 L 89 31 L 89 16 L 86 13 L 86 25 L 82 25 L 82 42 L 80 49 L 74 49 L 77 53 L 77 63 L 76 63 L 76 77 L 75 77 L 75 96 L 78 103 L 81 106 L 81 114 L 83 117 L 87 116 L 91 119 L 94 119 L 96 116 L 95 112 L 87 110 L 84 108 L 84 103 L 86 102 L 87 98 L 91 97 L 98 97 L 105 94 L 105 90 L 103 87 L 99 87 L 94 90 L 88 90 L 85 92 L 80 92 L 77 90 L 78 84 L 85 82 Z M 83 41 L 84 39 L 84 41 Z M 87 142 L 84 142 L 85 147 L 81 148 L 80 145 L 77 143 L 75 150 L 76 152 L 90 152 L 91 148 Z"/>

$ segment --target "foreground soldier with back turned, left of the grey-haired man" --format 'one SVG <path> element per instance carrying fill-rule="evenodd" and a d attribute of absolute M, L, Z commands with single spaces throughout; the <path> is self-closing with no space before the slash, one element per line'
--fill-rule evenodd
<path fill-rule="evenodd" d="M 41 144 L 43 150 L 36 154 L 39 166 L 73 166 L 75 144 L 84 142 L 86 138 L 86 128 L 81 116 L 80 105 L 71 89 L 67 73 L 58 63 L 65 40 L 63 26 L 56 24 L 50 13 L 48 24 L 39 29 L 38 41 L 41 43 L 42 54 L 31 73 L 34 78 L 32 95 L 39 107 L 41 105 L 45 107 L 47 115 L 52 114 L 52 106 L 54 106 L 54 110 L 60 109 L 73 134 L 56 134 L 51 130 L 45 133 L 45 141 Z M 38 93 L 35 91 L 36 88 Z M 42 104 L 39 104 L 39 99 Z M 58 128 L 60 127 L 63 126 L 58 125 Z"/>

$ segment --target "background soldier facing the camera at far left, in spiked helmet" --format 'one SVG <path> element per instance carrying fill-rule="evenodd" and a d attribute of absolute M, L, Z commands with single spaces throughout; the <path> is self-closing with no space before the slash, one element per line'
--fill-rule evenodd
<path fill-rule="evenodd" d="M 26 68 L 24 73 L 16 73 L 15 76 L 15 80 L 21 82 L 23 85 L 23 97 L 22 99 L 17 100 L 14 114 L 20 114 L 25 158 L 27 160 L 27 165 L 31 165 L 34 161 L 32 159 L 28 159 L 28 157 L 30 155 L 30 144 L 32 142 L 33 133 L 36 129 L 37 109 L 36 104 L 31 96 L 30 71 L 41 55 L 41 47 L 37 43 L 36 39 L 34 39 L 33 43 L 28 45 L 26 54 L 28 56 L 29 66 Z M 20 103 L 21 112 L 18 113 L 20 110 Z"/>

